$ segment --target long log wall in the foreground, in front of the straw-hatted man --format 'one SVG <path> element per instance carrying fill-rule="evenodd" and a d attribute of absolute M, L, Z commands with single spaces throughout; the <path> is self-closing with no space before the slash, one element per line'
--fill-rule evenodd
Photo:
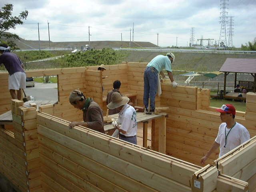
<path fill-rule="evenodd" d="M 38 113 L 42 189 L 191 191 L 199 166 Z"/>

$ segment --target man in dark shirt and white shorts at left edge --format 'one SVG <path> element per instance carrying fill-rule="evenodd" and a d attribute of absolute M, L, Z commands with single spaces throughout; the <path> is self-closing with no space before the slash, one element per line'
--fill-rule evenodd
<path fill-rule="evenodd" d="M 12 99 L 21 100 L 22 90 L 26 89 L 26 73 L 23 69 L 23 64 L 20 58 L 12 52 L 6 44 L 0 44 L 0 64 L 4 64 L 9 73 L 8 89 Z M 17 90 L 17 94 L 15 92 Z"/>

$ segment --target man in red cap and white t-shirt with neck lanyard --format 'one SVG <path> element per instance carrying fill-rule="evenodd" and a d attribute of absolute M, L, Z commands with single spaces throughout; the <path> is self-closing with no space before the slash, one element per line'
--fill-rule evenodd
<path fill-rule="evenodd" d="M 216 111 L 220 112 L 222 124 L 219 126 L 218 135 L 210 150 L 201 158 L 201 164 L 204 164 L 210 154 L 212 154 L 218 147 L 220 147 L 220 158 L 250 139 L 248 130 L 234 120 L 236 109 L 232 104 L 224 104 L 220 109 L 216 109 Z"/>

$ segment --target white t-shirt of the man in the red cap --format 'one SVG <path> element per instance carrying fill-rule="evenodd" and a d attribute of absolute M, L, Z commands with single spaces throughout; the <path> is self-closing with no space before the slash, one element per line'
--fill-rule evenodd
<path fill-rule="evenodd" d="M 220 144 L 219 158 L 224 154 L 230 152 L 232 149 L 236 148 L 240 144 L 250 139 L 250 134 L 248 130 L 238 122 L 236 122 L 235 126 L 232 129 L 226 128 L 226 135 L 225 135 L 225 128 L 226 128 L 226 123 L 220 124 L 218 136 L 215 139 L 215 142 Z M 224 147 L 225 140 L 226 140 L 226 147 Z"/>

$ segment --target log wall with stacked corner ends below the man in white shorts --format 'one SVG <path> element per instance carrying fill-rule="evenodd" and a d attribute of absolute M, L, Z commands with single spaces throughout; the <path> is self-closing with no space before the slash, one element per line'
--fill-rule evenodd
<path fill-rule="evenodd" d="M 12 100 L 13 130 L 0 130 L 0 171 L 22 192 L 42 190 L 36 108 Z"/>

